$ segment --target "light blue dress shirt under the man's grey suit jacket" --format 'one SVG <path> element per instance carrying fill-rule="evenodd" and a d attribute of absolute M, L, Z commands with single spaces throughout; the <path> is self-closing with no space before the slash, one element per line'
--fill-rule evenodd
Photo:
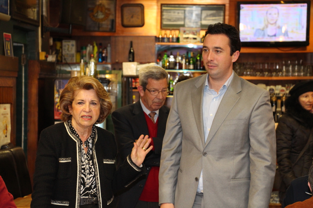
<path fill-rule="evenodd" d="M 229 84 L 233 80 L 233 76 L 234 76 L 234 71 L 217 93 L 214 91 L 214 89 L 209 88 L 209 81 L 208 81 L 209 75 L 207 75 L 207 79 L 205 80 L 205 87 L 204 87 L 203 100 L 202 100 L 203 127 L 204 127 L 205 142 L 207 142 L 210 128 L 212 126 L 213 119 L 218 109 L 218 106 L 221 103 Z M 198 193 L 203 193 L 202 175 L 203 175 L 203 170 L 201 171 L 201 175 L 199 179 L 199 184 L 198 184 L 198 189 L 197 189 Z"/>

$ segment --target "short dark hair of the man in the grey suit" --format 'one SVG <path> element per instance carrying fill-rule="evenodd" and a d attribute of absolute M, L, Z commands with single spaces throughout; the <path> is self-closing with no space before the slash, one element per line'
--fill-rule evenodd
<path fill-rule="evenodd" d="M 209 25 L 208 30 L 205 32 L 205 36 L 210 35 L 219 35 L 224 34 L 229 39 L 229 47 L 230 47 L 230 56 L 233 55 L 234 52 L 239 51 L 241 49 L 241 41 L 239 36 L 239 31 L 236 27 L 233 27 L 224 23 L 215 23 L 214 25 Z M 205 37 L 204 36 L 204 37 Z"/>

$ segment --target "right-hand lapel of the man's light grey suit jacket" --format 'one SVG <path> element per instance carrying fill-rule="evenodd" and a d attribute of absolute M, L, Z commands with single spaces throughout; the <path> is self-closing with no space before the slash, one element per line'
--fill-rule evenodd
<path fill-rule="evenodd" d="M 240 91 L 241 91 L 241 81 L 239 76 L 234 73 L 233 80 L 228 86 L 214 116 L 213 123 L 205 146 L 208 145 L 210 140 L 213 138 L 214 134 L 217 132 L 218 128 L 222 125 L 222 123 L 226 119 L 229 112 L 233 109 L 234 105 L 240 99 L 240 96 L 237 94 Z"/>

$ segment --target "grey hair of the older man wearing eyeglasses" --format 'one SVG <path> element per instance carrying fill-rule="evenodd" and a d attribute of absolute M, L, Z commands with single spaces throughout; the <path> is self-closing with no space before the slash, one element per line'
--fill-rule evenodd
<path fill-rule="evenodd" d="M 146 66 L 139 70 L 139 85 L 143 87 L 144 91 L 148 85 L 148 79 L 162 80 L 164 78 L 168 82 L 168 73 L 160 66 Z"/>

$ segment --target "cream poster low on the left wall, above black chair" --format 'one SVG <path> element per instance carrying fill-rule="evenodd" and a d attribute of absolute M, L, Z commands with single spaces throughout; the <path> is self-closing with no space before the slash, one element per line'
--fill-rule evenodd
<path fill-rule="evenodd" d="M 0 104 L 0 147 L 10 142 L 11 136 L 11 104 Z"/>

